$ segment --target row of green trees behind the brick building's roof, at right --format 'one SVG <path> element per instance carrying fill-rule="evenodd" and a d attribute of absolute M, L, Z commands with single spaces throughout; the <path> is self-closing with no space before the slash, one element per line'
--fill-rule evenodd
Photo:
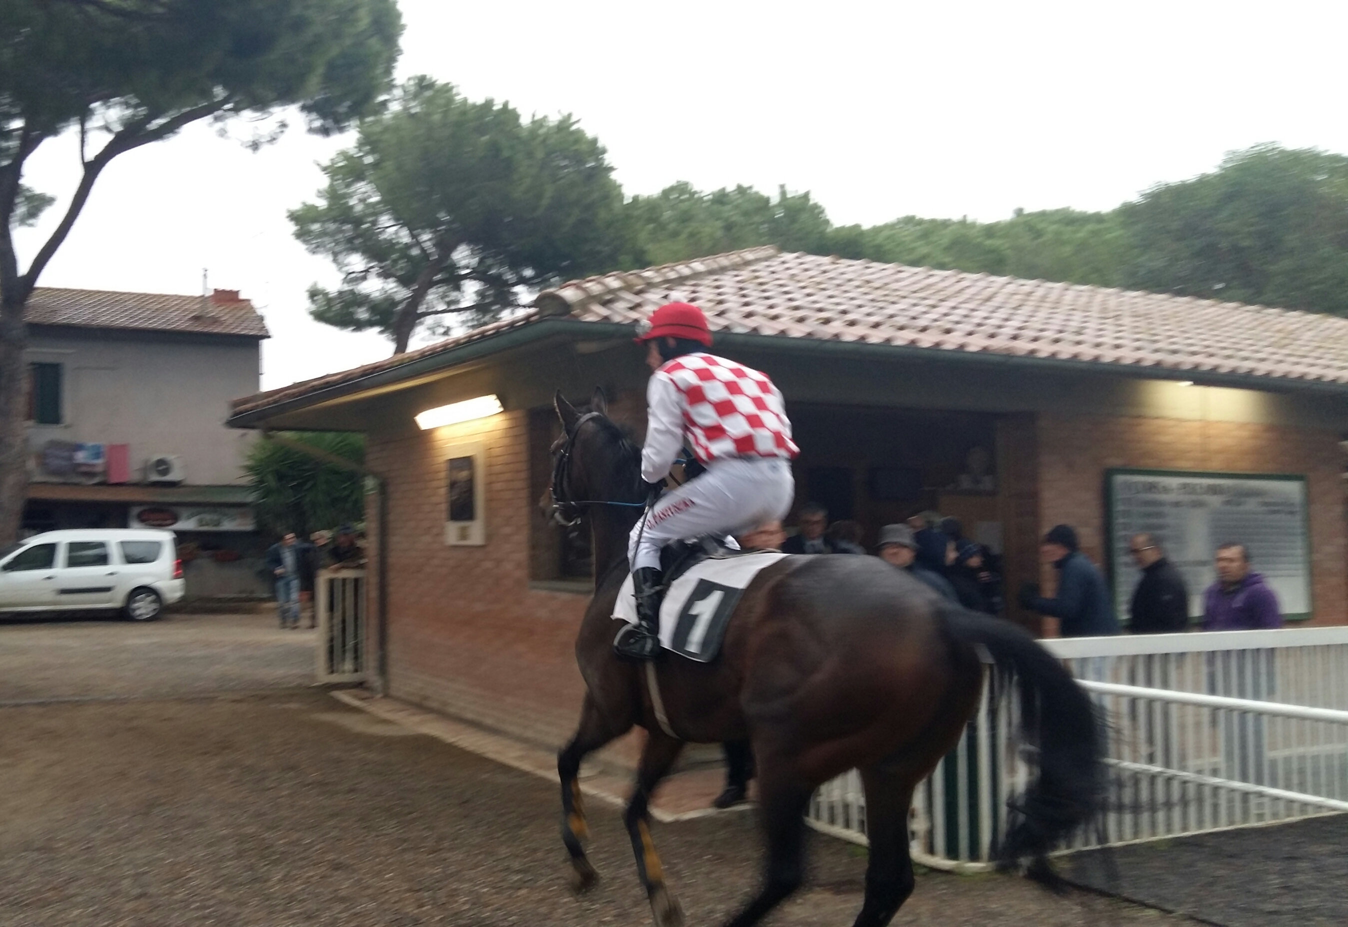
<path fill-rule="evenodd" d="M 1258 146 L 1100 213 L 976 222 L 906 216 L 834 226 L 807 193 L 677 183 L 625 206 L 625 268 L 775 244 L 785 251 L 1128 287 L 1348 315 L 1348 158 Z"/>

